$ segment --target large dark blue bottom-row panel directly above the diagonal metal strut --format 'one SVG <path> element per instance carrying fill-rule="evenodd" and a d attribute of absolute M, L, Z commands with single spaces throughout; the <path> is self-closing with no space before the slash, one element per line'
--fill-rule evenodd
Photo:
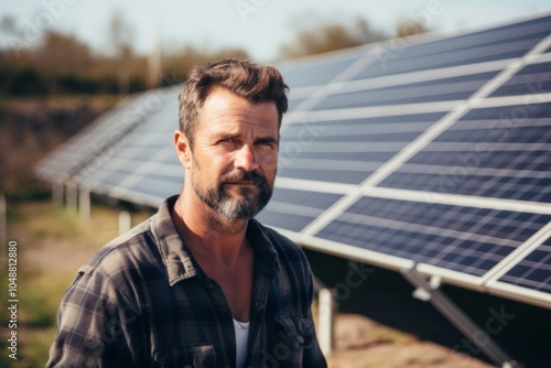
<path fill-rule="evenodd" d="M 550 219 L 551 215 L 363 197 L 316 237 L 483 275 Z"/>

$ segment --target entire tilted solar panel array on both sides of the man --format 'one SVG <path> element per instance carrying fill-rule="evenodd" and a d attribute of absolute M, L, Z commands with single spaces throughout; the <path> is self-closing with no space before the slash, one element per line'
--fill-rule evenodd
<path fill-rule="evenodd" d="M 258 218 L 306 247 L 551 307 L 550 30 L 544 14 L 282 63 L 291 109 Z M 158 206 L 183 183 L 176 94 L 119 107 L 39 174 Z"/>

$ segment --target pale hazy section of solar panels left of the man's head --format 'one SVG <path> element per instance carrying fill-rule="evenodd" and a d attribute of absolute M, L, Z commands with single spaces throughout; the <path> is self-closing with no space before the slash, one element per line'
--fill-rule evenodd
<path fill-rule="evenodd" d="M 54 151 L 36 174 L 50 182 L 71 180 L 93 193 L 158 206 L 168 193 L 179 193 L 183 183 L 183 167 L 172 149 L 179 89 L 125 99 Z"/>

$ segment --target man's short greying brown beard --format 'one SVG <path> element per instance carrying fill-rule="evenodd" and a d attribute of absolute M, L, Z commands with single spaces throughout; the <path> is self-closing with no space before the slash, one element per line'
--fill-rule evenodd
<path fill-rule="evenodd" d="M 205 188 L 205 185 L 202 186 L 197 181 L 199 177 L 198 171 L 199 167 L 195 161 L 191 180 L 193 191 L 204 204 L 230 223 L 255 217 L 266 207 L 272 196 L 273 182 L 268 183 L 268 180 L 257 172 L 237 171 L 225 174 L 215 186 Z M 240 187 L 239 193 L 242 196 L 240 198 L 226 193 L 225 184 L 245 181 L 255 183 L 257 190 Z M 255 193 L 257 191 L 258 195 Z"/>

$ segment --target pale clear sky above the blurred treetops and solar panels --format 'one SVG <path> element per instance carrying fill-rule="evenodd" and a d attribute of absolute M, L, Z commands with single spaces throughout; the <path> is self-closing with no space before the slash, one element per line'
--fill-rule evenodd
<path fill-rule="evenodd" d="M 551 13 L 549 0 L 17 0 L 0 2 L 28 32 L 26 44 L 45 29 L 71 32 L 97 50 L 109 47 L 108 25 L 118 11 L 132 28 L 140 52 L 162 40 L 163 50 L 186 44 L 245 48 L 255 61 L 274 59 L 301 25 L 316 20 L 363 17 L 375 30 L 393 33 L 398 21 L 420 20 L 446 33 L 496 25 L 538 12 Z M 1 35 L 6 45 L 7 36 Z"/>

